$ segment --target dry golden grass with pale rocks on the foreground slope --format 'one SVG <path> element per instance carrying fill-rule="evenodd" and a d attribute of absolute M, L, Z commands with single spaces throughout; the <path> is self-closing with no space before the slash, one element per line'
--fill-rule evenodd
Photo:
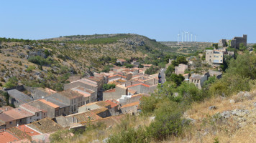
<path fill-rule="evenodd" d="M 250 92 L 252 98 L 241 97 L 238 94 L 230 98 L 216 97 L 203 103 L 195 103 L 186 112 L 186 117 L 196 119 L 190 129 L 187 129 L 180 137 L 171 137 L 166 142 L 256 142 L 256 113 L 253 112 L 246 117 L 247 124 L 239 128 L 238 123 L 231 117 L 226 120 L 216 120 L 211 122 L 212 116 L 234 109 L 248 109 L 252 111 L 256 102 L 256 90 Z M 230 103 L 234 99 L 235 103 Z M 210 106 L 215 106 L 215 110 L 210 110 Z M 255 111 L 255 110 L 254 110 Z"/>

